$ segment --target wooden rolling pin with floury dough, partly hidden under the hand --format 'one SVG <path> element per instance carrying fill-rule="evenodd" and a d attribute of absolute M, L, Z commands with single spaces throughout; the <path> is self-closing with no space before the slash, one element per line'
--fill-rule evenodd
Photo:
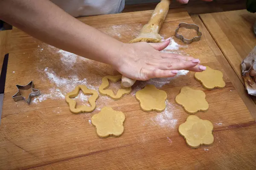
<path fill-rule="evenodd" d="M 163 21 L 166 18 L 166 15 L 169 11 L 169 5 L 171 0 L 161 0 L 160 3 L 157 4 L 156 8 L 151 15 L 150 20 L 140 31 L 140 34 L 129 43 L 134 42 L 161 42 L 161 36 L 159 33 L 160 28 L 163 24 Z M 128 77 L 122 76 L 122 85 L 124 87 L 131 87 L 134 85 L 136 80 L 130 79 Z"/>

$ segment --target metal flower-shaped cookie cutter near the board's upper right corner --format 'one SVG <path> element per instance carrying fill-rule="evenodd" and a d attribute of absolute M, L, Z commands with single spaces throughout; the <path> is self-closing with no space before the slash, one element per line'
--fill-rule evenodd
<path fill-rule="evenodd" d="M 195 29 L 197 31 L 198 36 L 193 37 L 192 39 L 186 39 L 183 37 L 183 35 L 178 34 L 178 31 L 181 27 L 187 28 L 187 29 Z M 188 23 L 180 23 L 178 28 L 175 30 L 175 37 L 180 39 L 184 44 L 191 44 L 192 42 L 199 41 L 201 39 L 202 33 L 199 31 L 199 27 L 195 24 L 188 24 Z"/>

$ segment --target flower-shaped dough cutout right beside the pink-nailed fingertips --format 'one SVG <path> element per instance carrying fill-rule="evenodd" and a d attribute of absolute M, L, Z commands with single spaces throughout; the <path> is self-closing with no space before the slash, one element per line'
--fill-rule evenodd
<path fill-rule="evenodd" d="M 201 82 L 204 88 L 212 90 L 214 88 L 224 88 L 225 82 L 221 71 L 213 70 L 206 66 L 206 70 L 195 73 L 195 79 Z"/>

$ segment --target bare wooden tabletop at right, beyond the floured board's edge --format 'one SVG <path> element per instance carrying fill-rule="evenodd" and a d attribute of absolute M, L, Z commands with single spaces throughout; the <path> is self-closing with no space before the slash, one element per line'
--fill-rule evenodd
<path fill-rule="evenodd" d="M 256 36 L 253 31 L 256 14 L 239 10 L 201 14 L 200 17 L 244 84 L 241 76 L 241 61 L 256 46 Z M 256 102 L 256 97 L 252 96 L 252 99 Z"/>

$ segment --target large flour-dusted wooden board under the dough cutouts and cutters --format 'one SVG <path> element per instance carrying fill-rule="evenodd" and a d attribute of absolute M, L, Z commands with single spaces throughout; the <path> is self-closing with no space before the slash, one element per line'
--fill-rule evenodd
<path fill-rule="evenodd" d="M 151 12 L 80 20 L 128 42 L 147 23 Z M 173 37 L 181 22 L 193 23 L 186 11 L 169 11 L 160 34 L 164 38 Z M 194 79 L 194 73 L 189 72 L 171 80 L 138 82 L 132 93 L 119 101 L 100 96 L 93 113 L 75 115 L 69 111 L 64 95 L 80 84 L 98 89 L 102 77 L 117 74 L 116 71 L 108 65 L 60 51 L 14 28 L 0 126 L 0 169 L 254 169 L 256 122 L 221 68 L 223 64 L 217 60 L 220 55 L 215 47 L 209 46 L 214 41 L 207 37 L 211 38 L 209 33 L 191 45 L 184 45 L 174 37 L 169 52 L 189 54 L 201 59 L 203 65 L 222 71 L 225 88 L 205 90 Z M 15 85 L 31 80 L 42 95 L 35 97 L 30 105 L 14 102 Z M 157 85 L 167 92 L 164 112 L 140 110 L 134 94 L 145 84 Z M 212 122 L 215 141 L 211 146 L 191 149 L 178 134 L 178 126 L 189 115 L 174 99 L 186 85 L 206 93 L 209 110 L 196 116 Z M 122 136 L 100 139 L 96 135 L 90 118 L 104 106 L 125 113 Z"/>

